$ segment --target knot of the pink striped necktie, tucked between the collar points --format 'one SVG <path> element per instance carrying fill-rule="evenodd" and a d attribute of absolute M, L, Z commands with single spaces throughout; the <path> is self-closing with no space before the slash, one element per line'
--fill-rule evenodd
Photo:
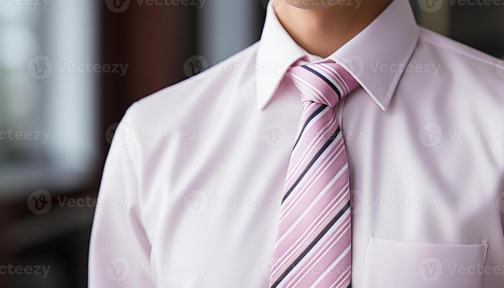
<path fill-rule="evenodd" d="M 360 84 L 339 64 L 318 63 L 293 66 L 287 71 L 303 101 L 334 107 Z"/>

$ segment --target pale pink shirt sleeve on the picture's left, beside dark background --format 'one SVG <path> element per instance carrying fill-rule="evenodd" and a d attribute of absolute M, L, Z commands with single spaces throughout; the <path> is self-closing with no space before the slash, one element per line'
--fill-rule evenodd
<path fill-rule="evenodd" d="M 151 245 L 141 220 L 138 156 L 132 157 L 138 151 L 129 131 L 132 107 L 115 129 L 96 202 L 88 264 L 92 288 L 155 287 L 145 270 Z"/>

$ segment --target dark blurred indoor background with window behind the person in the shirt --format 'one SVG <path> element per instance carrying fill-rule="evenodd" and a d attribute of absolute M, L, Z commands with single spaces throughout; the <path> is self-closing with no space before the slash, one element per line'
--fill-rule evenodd
<path fill-rule="evenodd" d="M 421 26 L 501 58 L 504 1 L 488 3 L 411 1 Z M 212 66 L 259 40 L 266 6 L 0 0 L 0 287 L 87 286 L 93 200 L 124 111 L 191 76 L 191 57 Z"/>

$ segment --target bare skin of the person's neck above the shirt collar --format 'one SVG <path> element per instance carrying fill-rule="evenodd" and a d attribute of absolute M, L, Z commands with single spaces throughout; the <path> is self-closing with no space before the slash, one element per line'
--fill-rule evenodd
<path fill-rule="evenodd" d="M 273 7 L 278 20 L 292 39 L 306 52 L 323 58 L 334 53 L 362 31 L 392 2 L 340 1 L 334 6 L 304 9 L 288 4 L 302 0 L 272 1 L 276 2 Z"/>

